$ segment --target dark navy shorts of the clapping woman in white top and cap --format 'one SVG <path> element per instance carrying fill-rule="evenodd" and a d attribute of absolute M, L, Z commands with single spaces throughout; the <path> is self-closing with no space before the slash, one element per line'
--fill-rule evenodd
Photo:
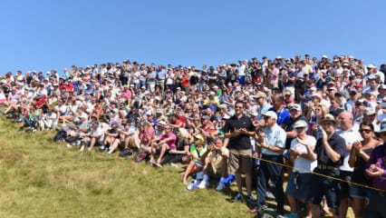
<path fill-rule="evenodd" d="M 285 194 L 291 195 L 298 199 L 306 199 L 310 190 L 311 178 L 313 177 L 312 173 L 299 173 L 299 185 L 296 189 L 294 184 L 294 172 L 291 173 L 290 178 L 287 183 Z"/>

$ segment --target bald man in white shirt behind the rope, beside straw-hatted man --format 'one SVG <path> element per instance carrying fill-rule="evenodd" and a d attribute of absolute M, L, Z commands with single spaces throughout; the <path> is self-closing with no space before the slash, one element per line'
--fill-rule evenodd
<path fill-rule="evenodd" d="M 350 152 L 352 150 L 352 144 L 362 141 L 362 136 L 357 130 L 352 128 L 352 113 L 343 111 L 339 114 L 338 121 L 340 129 L 337 131 L 337 134 L 343 137 L 346 143 L 343 165 L 339 167 L 339 170 L 341 171 L 341 179 L 351 181 L 353 168 L 349 165 Z M 339 216 L 346 217 L 350 196 L 350 186 L 348 183 L 341 183 L 340 196 Z"/>

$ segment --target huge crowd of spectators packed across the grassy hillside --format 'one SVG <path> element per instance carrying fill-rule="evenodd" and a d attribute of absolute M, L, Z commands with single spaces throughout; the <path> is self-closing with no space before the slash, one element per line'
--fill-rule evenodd
<path fill-rule="evenodd" d="M 55 130 L 81 152 L 183 163 L 190 191 L 216 180 L 221 192 L 234 179 L 234 201 L 246 200 L 249 213 L 273 193 L 279 216 L 318 217 L 322 208 L 346 217 L 351 205 L 355 217 L 386 217 L 385 74 L 386 64 L 348 55 L 200 68 L 124 60 L 9 72 L 0 105 L 20 131 Z"/>

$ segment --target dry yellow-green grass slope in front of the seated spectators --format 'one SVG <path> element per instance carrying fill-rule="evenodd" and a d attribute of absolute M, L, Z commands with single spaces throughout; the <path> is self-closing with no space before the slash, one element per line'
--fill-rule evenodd
<path fill-rule="evenodd" d="M 0 118 L 0 217 L 253 217 L 230 192 L 187 192 L 182 169 L 80 153 L 53 133 L 17 129 Z"/>

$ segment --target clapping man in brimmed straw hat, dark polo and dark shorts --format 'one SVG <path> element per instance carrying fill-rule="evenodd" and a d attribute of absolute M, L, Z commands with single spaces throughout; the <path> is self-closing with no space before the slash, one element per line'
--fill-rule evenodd
<path fill-rule="evenodd" d="M 339 166 L 343 164 L 346 143 L 343 137 L 335 133 L 337 121 L 332 114 L 324 115 L 319 124 L 322 126 L 323 137 L 315 145 L 314 160 L 318 161 L 318 165 L 314 172 L 339 178 Z M 319 205 L 323 195 L 328 206 L 333 208 L 333 217 L 339 217 L 339 182 L 316 174 L 313 174 L 312 181 L 307 201 L 311 203 L 313 217 L 320 215 Z"/>

